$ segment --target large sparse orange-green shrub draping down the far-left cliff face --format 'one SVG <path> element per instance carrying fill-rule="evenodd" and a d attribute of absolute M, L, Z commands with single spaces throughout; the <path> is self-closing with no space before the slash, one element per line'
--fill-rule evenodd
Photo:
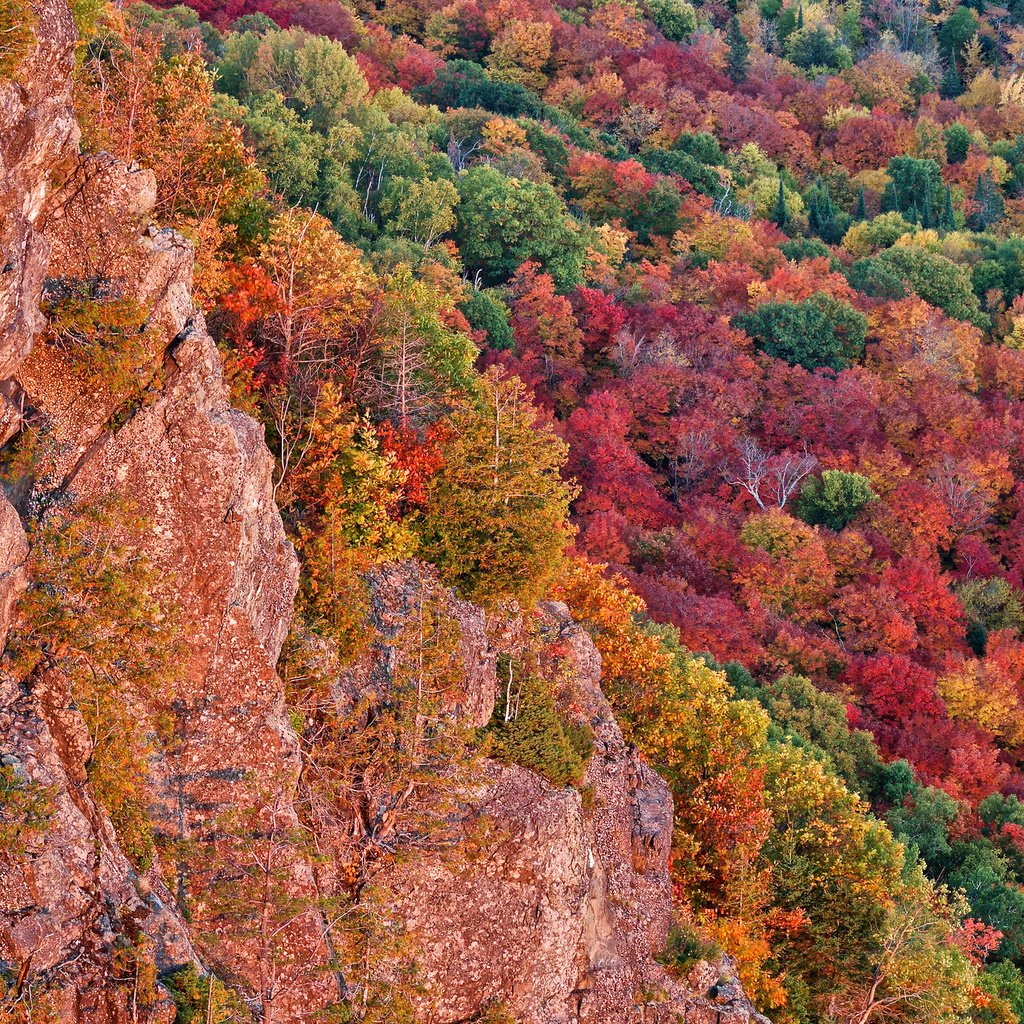
<path fill-rule="evenodd" d="M 125 541 L 141 521 L 124 503 L 65 504 L 30 532 L 29 586 L 8 641 L 19 679 L 56 671 L 92 741 L 86 770 L 125 854 L 153 859 L 145 778 L 150 740 L 134 707 L 173 679 L 175 610 L 157 596 L 158 573 Z"/>

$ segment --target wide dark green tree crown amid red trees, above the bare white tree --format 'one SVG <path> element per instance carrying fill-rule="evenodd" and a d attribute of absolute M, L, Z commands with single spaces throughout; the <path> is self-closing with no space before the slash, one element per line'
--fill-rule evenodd
<path fill-rule="evenodd" d="M 863 313 L 821 292 L 806 302 L 766 302 L 734 323 L 769 355 L 807 370 L 849 366 L 863 353 L 867 332 Z"/>

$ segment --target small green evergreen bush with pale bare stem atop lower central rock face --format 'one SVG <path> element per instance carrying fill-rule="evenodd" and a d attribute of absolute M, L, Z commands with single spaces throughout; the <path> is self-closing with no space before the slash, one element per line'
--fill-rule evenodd
<path fill-rule="evenodd" d="M 558 712 L 551 683 L 499 666 L 501 692 L 487 726 L 490 755 L 528 768 L 552 785 L 579 785 L 592 746 L 589 730 L 567 722 Z"/>

